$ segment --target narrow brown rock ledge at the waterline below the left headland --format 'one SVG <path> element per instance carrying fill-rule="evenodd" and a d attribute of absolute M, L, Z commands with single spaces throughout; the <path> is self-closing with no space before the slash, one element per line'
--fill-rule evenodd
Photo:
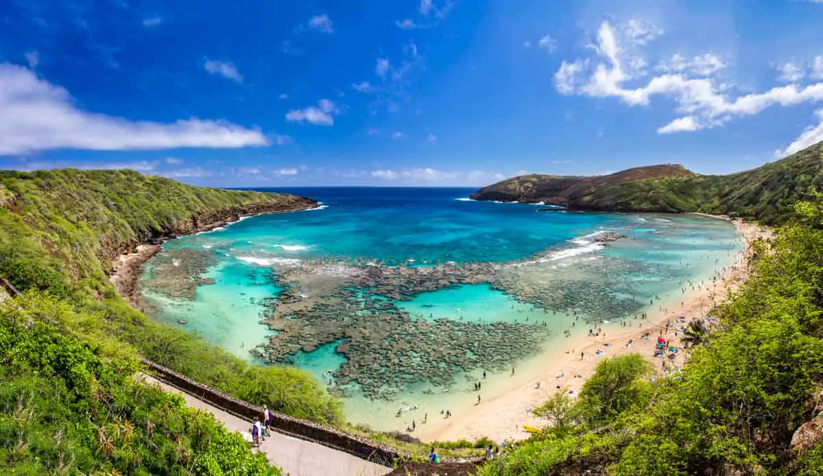
<path fill-rule="evenodd" d="M 137 310 L 142 310 L 139 301 L 137 300 L 137 296 L 135 295 L 135 292 L 137 291 L 137 279 L 140 277 L 143 264 L 146 264 L 146 261 L 151 259 L 155 254 L 160 253 L 160 250 L 163 249 L 163 243 L 166 240 L 171 240 L 179 236 L 196 235 L 198 233 L 214 231 L 216 228 L 232 225 L 248 217 L 258 217 L 260 215 L 268 215 L 272 213 L 305 212 L 307 210 L 317 210 L 319 208 L 323 208 L 322 203 L 313 203 L 311 207 L 291 208 L 286 210 L 269 210 L 254 213 L 239 213 L 236 216 L 236 219 L 218 220 L 203 224 L 198 223 L 198 226 L 192 231 L 186 233 L 173 233 L 168 236 L 163 236 L 159 240 L 154 240 L 154 242 L 137 245 L 133 251 L 120 254 L 111 264 L 109 282 L 112 283 L 119 295 L 128 301 L 130 306 Z"/>

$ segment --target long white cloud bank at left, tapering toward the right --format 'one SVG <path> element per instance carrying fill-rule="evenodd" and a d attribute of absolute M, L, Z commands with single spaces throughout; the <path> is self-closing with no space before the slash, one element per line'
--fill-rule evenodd
<path fill-rule="evenodd" d="M 259 130 L 225 121 L 130 121 L 77 109 L 62 87 L 0 64 L 0 155 L 69 148 L 96 151 L 265 146 Z"/>

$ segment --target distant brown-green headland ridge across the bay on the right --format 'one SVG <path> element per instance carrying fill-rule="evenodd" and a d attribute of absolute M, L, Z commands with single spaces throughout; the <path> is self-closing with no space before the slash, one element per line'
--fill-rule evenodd
<path fill-rule="evenodd" d="M 521 175 L 472 194 L 476 200 L 543 202 L 600 212 L 706 212 L 781 222 L 810 187 L 823 185 L 823 142 L 756 169 L 699 175 L 648 166 L 611 175 Z"/>

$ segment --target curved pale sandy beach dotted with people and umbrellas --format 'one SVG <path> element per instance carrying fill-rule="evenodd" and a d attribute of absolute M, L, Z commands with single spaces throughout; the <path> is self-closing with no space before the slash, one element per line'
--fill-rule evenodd
<path fill-rule="evenodd" d="M 728 217 L 715 217 L 728 220 Z M 426 425 L 420 433 L 424 441 L 452 441 L 460 438 L 474 439 L 488 436 L 494 441 L 506 439 L 521 440 L 529 436 L 523 427 L 543 427 L 545 421 L 532 417 L 531 408 L 536 408 L 559 387 L 567 387 L 578 394 L 584 381 L 594 372 L 603 357 L 616 357 L 627 353 L 639 353 L 652 362 L 660 375 L 682 366 L 685 352 L 677 352 L 677 358 L 670 360 L 654 357 L 655 344 L 662 335 L 671 346 L 681 347 L 681 326 L 690 320 L 704 319 L 715 305 L 728 299 L 746 279 L 748 264 L 751 259 L 751 244 L 759 239 L 768 239 L 771 232 L 755 223 L 732 221 L 744 240 L 742 251 L 731 267 L 718 270 L 719 278 L 694 282 L 683 288 L 682 301 L 677 303 L 656 303 L 657 310 L 649 311 L 646 319 L 625 320 L 626 327 L 618 324 L 605 324 L 597 337 L 586 334 L 572 335 L 563 341 L 567 350 L 560 357 L 549 357 L 546 362 L 533 371 L 527 384 L 523 379 L 513 381 L 510 388 L 495 392 L 497 396 L 483 399 L 481 404 L 468 411 L 454 413 L 451 418 L 437 419 Z M 678 300 L 680 301 L 680 300 Z M 682 303 L 682 304 L 681 304 Z M 667 306 L 667 307 L 666 307 Z M 679 320 L 685 316 L 685 320 Z M 672 323 L 672 327 L 667 327 Z M 605 333 L 605 334 L 604 334 Z M 645 334 L 650 333 L 646 336 Z M 632 343 L 627 345 L 631 341 Z M 607 344 L 609 344 L 607 346 Z M 598 351 L 604 352 L 597 355 Z M 583 358 L 581 360 L 581 353 Z M 514 379 L 513 379 L 514 380 Z M 537 388 L 540 382 L 540 388 Z"/>

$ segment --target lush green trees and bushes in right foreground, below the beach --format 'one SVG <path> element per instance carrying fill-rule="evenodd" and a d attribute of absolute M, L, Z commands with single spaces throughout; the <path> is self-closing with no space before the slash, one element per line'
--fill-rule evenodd
<path fill-rule="evenodd" d="M 823 474 L 823 444 L 791 448 L 823 389 L 823 196 L 811 196 L 793 209 L 802 222 L 759 245 L 751 278 L 714 310 L 718 329 L 700 332 L 682 371 L 650 384 L 640 357 L 602 362 L 573 406 L 541 408 L 573 423 L 480 474 Z"/>

